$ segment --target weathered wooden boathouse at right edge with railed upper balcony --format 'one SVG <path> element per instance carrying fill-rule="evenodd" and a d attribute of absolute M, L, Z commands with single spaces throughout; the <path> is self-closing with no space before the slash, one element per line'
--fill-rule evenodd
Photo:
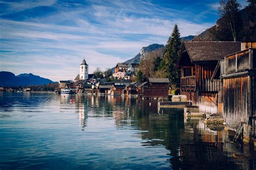
<path fill-rule="evenodd" d="M 212 80 L 223 83 L 223 117 L 229 130 L 244 130 L 244 140 L 255 138 L 256 43 L 241 44 L 242 51 L 220 59 Z"/>

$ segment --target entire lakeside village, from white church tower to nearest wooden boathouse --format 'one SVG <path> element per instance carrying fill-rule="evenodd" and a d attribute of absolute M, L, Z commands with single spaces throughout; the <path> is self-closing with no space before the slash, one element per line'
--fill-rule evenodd
<path fill-rule="evenodd" d="M 184 116 L 237 132 L 234 140 L 256 145 L 256 42 L 184 41 L 176 63 L 180 88 L 168 78 L 132 81 L 139 64 L 117 63 L 110 81 L 89 74 L 85 59 L 74 81 L 59 81 L 61 93 L 133 96 L 158 100 L 159 107 L 184 107 Z M 170 100 L 177 97 L 178 102 Z M 185 99 L 185 102 L 181 100 Z M 241 137 L 241 138 L 240 138 Z"/>

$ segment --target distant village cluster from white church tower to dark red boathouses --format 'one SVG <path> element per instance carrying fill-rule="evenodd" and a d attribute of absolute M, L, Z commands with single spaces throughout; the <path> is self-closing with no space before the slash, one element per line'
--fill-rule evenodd
<path fill-rule="evenodd" d="M 112 77 L 106 81 L 88 74 L 89 65 L 85 59 L 79 67 L 79 74 L 74 81 L 59 81 L 60 93 L 94 93 L 99 95 L 136 95 L 145 98 L 167 98 L 169 96 L 169 79 L 149 79 L 148 82 L 132 82 L 131 77 L 138 70 L 138 63 L 117 63 Z"/>

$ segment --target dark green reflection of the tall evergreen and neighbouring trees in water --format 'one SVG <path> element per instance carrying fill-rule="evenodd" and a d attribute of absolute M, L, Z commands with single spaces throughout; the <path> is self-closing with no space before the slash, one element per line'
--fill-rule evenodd
<path fill-rule="evenodd" d="M 149 106 L 151 102 L 151 106 Z M 144 132 L 142 138 L 148 139 L 143 145 L 164 145 L 170 151 L 172 168 L 180 167 L 179 141 L 180 129 L 184 128 L 183 110 L 163 110 L 164 114 L 157 112 L 157 103 L 144 101 L 143 107 L 137 107 L 137 125 Z M 156 140 L 157 139 L 157 140 Z M 160 140 L 159 140 L 160 139 Z"/>

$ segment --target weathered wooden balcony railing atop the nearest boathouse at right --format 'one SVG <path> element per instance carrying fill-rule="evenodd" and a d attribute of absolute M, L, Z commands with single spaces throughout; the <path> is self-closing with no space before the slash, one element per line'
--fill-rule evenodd
<path fill-rule="evenodd" d="M 253 49 L 235 53 L 225 58 L 226 73 L 253 69 Z"/>

